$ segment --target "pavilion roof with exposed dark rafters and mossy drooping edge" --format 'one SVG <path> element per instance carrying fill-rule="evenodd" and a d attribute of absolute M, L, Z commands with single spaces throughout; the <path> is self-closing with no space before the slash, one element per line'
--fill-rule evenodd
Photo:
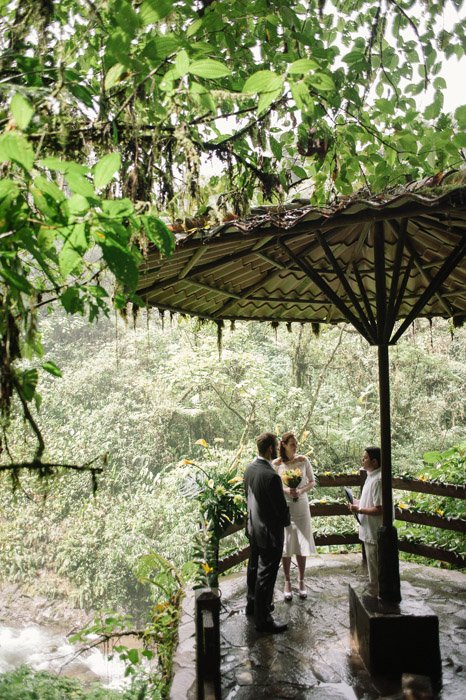
<path fill-rule="evenodd" d="M 150 250 L 138 293 L 215 321 L 350 322 L 393 342 L 400 319 L 466 316 L 465 252 L 466 187 L 403 190 L 187 232 L 170 258 Z"/>

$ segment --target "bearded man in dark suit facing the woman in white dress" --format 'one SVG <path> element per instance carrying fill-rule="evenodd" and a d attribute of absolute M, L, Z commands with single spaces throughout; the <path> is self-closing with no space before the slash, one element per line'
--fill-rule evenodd
<path fill-rule="evenodd" d="M 290 512 L 280 477 L 272 466 L 277 457 L 277 438 L 262 433 L 256 438 L 259 456 L 246 468 L 244 485 L 248 502 L 247 536 L 251 545 L 248 562 L 246 615 L 254 615 L 259 632 L 284 632 L 287 625 L 274 620 L 272 598 L 283 551 L 284 528 Z"/>

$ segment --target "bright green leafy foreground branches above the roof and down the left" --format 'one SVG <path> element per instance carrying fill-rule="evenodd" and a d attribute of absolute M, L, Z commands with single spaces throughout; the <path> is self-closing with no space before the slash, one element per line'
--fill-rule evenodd
<path fill-rule="evenodd" d="M 57 460 L 30 409 L 41 370 L 60 375 L 38 308 L 138 305 L 148 242 L 173 246 L 160 216 L 204 226 L 463 163 L 466 106 L 444 111 L 440 75 L 464 56 L 461 6 L 0 1 L 0 409 L 5 429 L 16 395 L 35 434 L 23 466 Z"/>

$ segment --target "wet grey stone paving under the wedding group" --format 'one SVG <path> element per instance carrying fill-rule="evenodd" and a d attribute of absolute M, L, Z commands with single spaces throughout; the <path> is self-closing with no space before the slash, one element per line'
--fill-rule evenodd
<path fill-rule="evenodd" d="M 439 700 L 466 698 L 466 576 L 401 562 L 402 596 L 422 599 L 438 615 L 442 653 Z M 295 579 L 296 570 L 294 572 Z M 279 573 L 274 615 L 289 623 L 280 635 L 260 635 L 244 613 L 245 573 L 220 581 L 221 673 L 224 700 L 375 700 L 401 698 L 400 679 L 374 678 L 351 650 L 348 583 L 364 584 L 360 554 L 316 555 L 308 560 L 308 598 L 282 601 Z M 175 659 L 171 698 L 194 698 L 192 599 Z"/>

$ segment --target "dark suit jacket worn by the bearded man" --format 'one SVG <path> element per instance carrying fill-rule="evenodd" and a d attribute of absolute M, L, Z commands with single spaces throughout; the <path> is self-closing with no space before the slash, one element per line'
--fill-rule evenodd
<path fill-rule="evenodd" d="M 246 468 L 244 486 L 249 539 L 261 549 L 282 548 L 283 529 L 290 524 L 290 511 L 279 475 L 270 462 L 256 457 Z"/>

